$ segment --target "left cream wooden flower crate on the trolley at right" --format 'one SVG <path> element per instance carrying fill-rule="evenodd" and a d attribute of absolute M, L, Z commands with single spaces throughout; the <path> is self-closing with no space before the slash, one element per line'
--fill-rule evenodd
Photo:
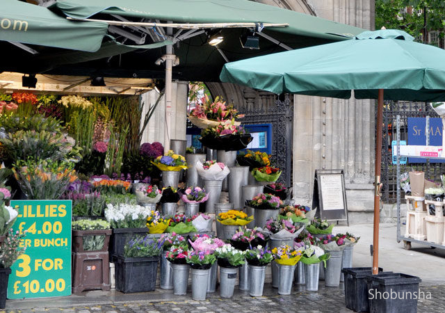
<path fill-rule="evenodd" d="M 426 239 L 426 204 L 424 198 L 405 195 L 406 212 L 406 230 L 405 236 L 416 239 Z"/>

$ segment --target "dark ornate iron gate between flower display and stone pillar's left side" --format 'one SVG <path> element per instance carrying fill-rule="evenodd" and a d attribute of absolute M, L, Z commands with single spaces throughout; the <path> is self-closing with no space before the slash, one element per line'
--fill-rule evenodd
<path fill-rule="evenodd" d="M 248 103 L 236 109 L 245 114 L 242 120 L 245 125 L 272 124 L 271 158 L 282 169 L 278 181 L 286 186 L 292 186 L 293 104 L 289 95 L 285 95 L 283 101 L 275 97 L 270 93 L 260 95 L 259 102 L 263 104 L 259 103 L 251 109 Z M 257 109 L 258 107 L 260 109 Z"/>

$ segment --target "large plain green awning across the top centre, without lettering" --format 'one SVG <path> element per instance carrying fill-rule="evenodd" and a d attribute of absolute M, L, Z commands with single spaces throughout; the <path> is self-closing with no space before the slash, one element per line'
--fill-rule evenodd
<path fill-rule="evenodd" d="M 59 0 L 50 8 L 58 8 L 65 15 L 80 19 L 104 13 L 181 23 L 288 23 L 289 27 L 274 28 L 274 31 L 327 40 L 341 40 L 341 37 L 353 37 L 364 31 L 248 0 Z"/>

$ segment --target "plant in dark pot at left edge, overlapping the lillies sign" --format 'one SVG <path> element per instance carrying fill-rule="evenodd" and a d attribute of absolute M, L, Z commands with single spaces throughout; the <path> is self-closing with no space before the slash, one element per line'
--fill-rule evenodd
<path fill-rule="evenodd" d="M 6 305 L 6 294 L 8 289 L 8 278 L 11 273 L 11 266 L 22 255 L 26 247 L 21 247 L 20 243 L 24 240 L 26 232 L 13 232 L 12 228 L 8 231 L 8 236 L 0 244 L 0 309 Z"/>

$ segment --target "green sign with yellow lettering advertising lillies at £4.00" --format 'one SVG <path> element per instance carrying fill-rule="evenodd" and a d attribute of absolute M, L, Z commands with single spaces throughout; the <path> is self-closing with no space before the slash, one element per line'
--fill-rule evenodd
<path fill-rule="evenodd" d="M 24 232 L 26 246 L 11 266 L 8 298 L 71 294 L 71 200 L 11 200 L 19 215 L 13 230 Z"/>

